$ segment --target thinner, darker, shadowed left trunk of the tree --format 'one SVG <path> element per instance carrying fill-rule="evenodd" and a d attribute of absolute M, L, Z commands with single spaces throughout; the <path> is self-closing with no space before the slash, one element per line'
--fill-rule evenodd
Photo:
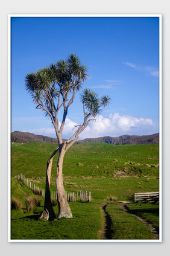
<path fill-rule="evenodd" d="M 44 218 L 45 220 L 54 220 L 56 219 L 54 210 L 52 208 L 51 203 L 51 193 L 50 193 L 50 179 L 51 179 L 51 168 L 52 168 L 52 156 L 51 159 L 48 160 L 46 164 L 46 184 L 45 184 L 45 203 L 44 203 L 44 210 L 40 215 L 40 218 Z"/>

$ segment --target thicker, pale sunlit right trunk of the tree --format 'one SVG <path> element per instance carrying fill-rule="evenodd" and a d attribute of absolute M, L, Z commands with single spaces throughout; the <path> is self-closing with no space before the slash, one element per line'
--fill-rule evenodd
<path fill-rule="evenodd" d="M 65 146 L 61 146 L 58 162 L 57 162 L 57 178 L 56 178 L 56 188 L 57 188 L 57 202 L 58 202 L 58 216 L 57 220 L 61 217 L 72 218 L 71 208 L 68 204 L 65 188 L 63 185 L 63 159 L 65 156 Z"/>

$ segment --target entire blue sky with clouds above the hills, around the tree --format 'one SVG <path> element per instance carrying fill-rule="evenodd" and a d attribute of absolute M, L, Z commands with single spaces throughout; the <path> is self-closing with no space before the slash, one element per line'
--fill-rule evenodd
<path fill-rule="evenodd" d="M 159 132 L 159 18 L 11 18 L 11 132 L 55 137 L 51 121 L 35 109 L 25 75 L 75 53 L 89 69 L 83 88 L 112 103 L 83 138 Z M 61 115 L 60 115 L 61 117 Z M 83 121 L 80 95 L 69 109 L 63 137 Z"/>

